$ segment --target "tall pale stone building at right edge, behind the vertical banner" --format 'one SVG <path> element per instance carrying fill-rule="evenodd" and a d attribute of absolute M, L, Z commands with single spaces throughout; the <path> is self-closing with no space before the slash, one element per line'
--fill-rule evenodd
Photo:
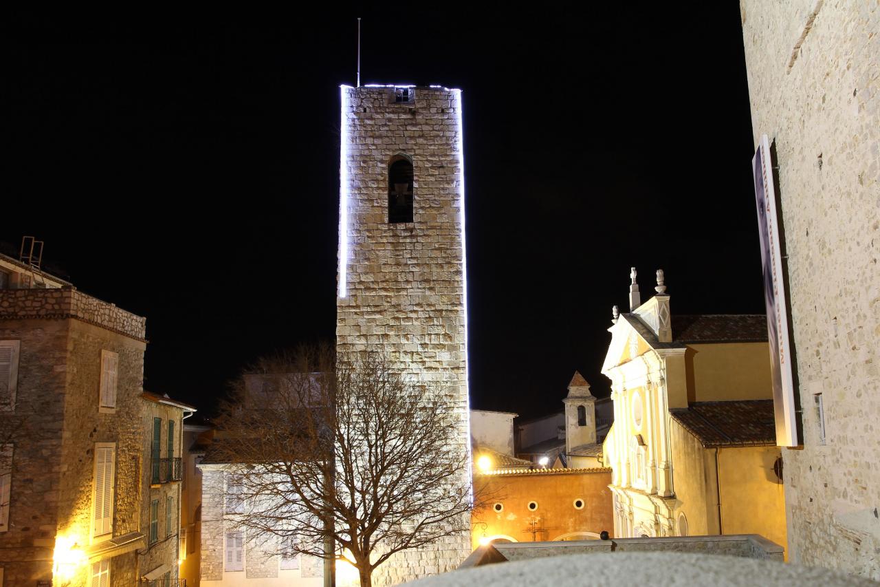
<path fill-rule="evenodd" d="M 783 450 L 790 560 L 880 579 L 880 5 L 740 9 L 755 143 L 775 145 L 803 420 Z"/>

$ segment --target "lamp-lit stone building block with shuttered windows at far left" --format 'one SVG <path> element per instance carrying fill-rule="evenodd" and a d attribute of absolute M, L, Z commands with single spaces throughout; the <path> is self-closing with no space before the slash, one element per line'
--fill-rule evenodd
<path fill-rule="evenodd" d="M 177 422 L 159 445 L 173 458 L 193 408 L 143 394 L 145 319 L 32 264 L 0 256 L 0 272 L 4 584 L 133 585 L 157 568 L 176 580 L 173 511 L 158 521 L 173 546 L 150 541 L 150 497 L 173 494 L 173 479 L 151 487 L 150 419 Z"/>

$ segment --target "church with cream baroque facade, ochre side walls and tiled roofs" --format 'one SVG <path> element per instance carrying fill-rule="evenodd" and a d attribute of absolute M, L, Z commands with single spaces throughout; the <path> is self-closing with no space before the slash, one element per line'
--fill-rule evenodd
<path fill-rule="evenodd" d="M 641 303 L 632 278 L 602 368 L 614 535 L 760 534 L 785 546 L 765 316 L 672 316 L 662 282 Z"/>

